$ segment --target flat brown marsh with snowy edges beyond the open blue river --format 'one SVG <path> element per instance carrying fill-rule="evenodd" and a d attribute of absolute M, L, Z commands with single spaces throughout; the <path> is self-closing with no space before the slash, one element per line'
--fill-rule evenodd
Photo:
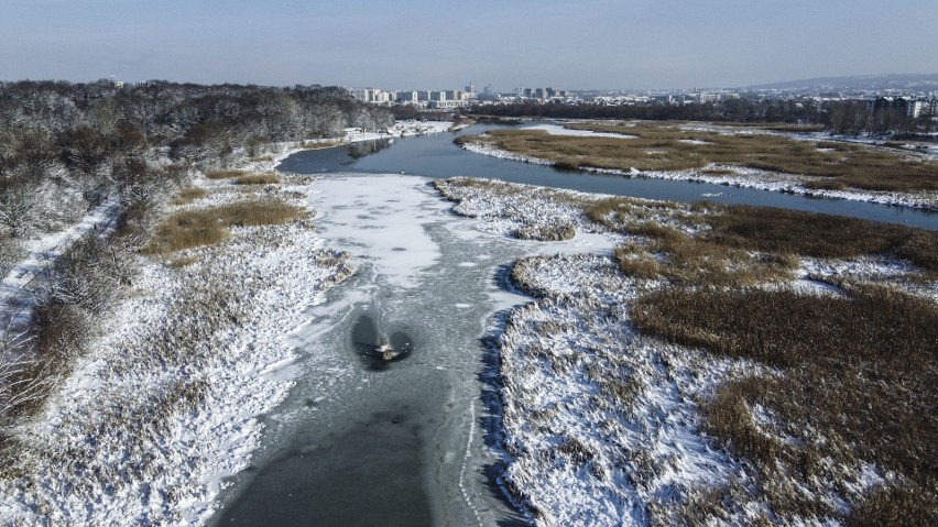
<path fill-rule="evenodd" d="M 899 147 L 832 141 L 828 135 L 625 121 L 497 130 L 457 141 L 473 152 L 565 169 L 938 209 L 938 163 L 932 157 Z"/>

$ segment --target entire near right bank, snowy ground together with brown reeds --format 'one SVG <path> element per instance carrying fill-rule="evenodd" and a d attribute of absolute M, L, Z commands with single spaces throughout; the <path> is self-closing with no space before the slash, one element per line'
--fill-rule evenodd
<path fill-rule="evenodd" d="M 623 141 L 623 140 L 619 140 Z M 938 233 L 483 179 L 436 182 L 516 237 L 495 336 L 505 493 L 538 525 L 932 525 Z"/>

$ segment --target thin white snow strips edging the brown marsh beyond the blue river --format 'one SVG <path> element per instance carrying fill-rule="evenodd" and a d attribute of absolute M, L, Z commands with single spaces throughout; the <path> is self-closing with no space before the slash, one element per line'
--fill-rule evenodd
<path fill-rule="evenodd" d="M 543 124 L 528 127 L 530 129 L 542 129 L 547 130 L 548 133 L 552 134 L 564 134 L 564 135 L 590 135 L 598 136 L 600 135 L 597 132 L 585 132 L 577 130 L 567 130 L 556 124 Z M 700 130 L 700 131 L 720 131 L 719 128 L 711 127 L 698 127 L 692 128 L 691 130 Z M 727 132 L 729 133 L 729 132 Z M 756 133 L 755 131 L 749 133 Z M 766 133 L 777 133 L 777 132 L 766 132 Z M 621 134 L 608 134 L 614 135 L 617 138 L 626 138 L 628 135 Z M 498 157 L 502 160 L 509 161 L 519 161 L 522 163 L 531 163 L 536 165 L 550 165 L 552 162 L 548 160 L 515 154 L 513 152 L 508 152 L 503 149 L 499 149 L 492 143 L 476 141 L 476 142 L 466 142 L 461 143 L 461 146 L 477 154 L 489 155 L 492 157 Z M 873 191 L 873 190 L 861 190 L 861 189 L 847 189 L 847 190 L 829 190 L 829 189 L 818 189 L 818 188 L 808 188 L 806 184 L 811 182 L 822 182 L 824 178 L 805 176 L 799 174 L 781 174 L 770 171 L 760 171 L 755 168 L 740 167 L 740 166 L 724 166 L 724 165 L 710 165 L 705 167 L 702 171 L 645 171 L 640 172 L 636 169 L 631 171 L 618 171 L 618 169 L 600 169 L 600 168 L 585 168 L 589 172 L 595 172 L 598 174 L 610 174 L 610 175 L 622 175 L 622 176 L 631 176 L 631 177 L 648 177 L 656 179 L 673 179 L 673 180 L 681 180 L 681 182 L 695 182 L 695 183 L 709 183 L 712 185 L 726 185 L 730 187 L 739 187 L 739 188 L 753 188 L 757 190 L 771 190 L 776 193 L 787 193 L 787 194 L 798 194 L 803 196 L 812 196 L 812 197 L 824 197 L 824 198 L 838 198 L 838 199 L 849 199 L 853 201 L 868 201 L 873 204 L 881 205 L 892 205 L 899 207 L 913 207 L 920 208 L 927 210 L 938 210 L 938 196 L 935 193 L 895 193 L 895 191 Z M 715 173 L 709 173 L 707 171 L 713 171 Z M 724 173 L 724 174 L 723 174 Z"/>

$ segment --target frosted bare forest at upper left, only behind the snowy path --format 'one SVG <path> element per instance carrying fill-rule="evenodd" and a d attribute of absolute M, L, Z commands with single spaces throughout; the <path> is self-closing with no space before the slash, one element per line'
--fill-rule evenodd
<path fill-rule="evenodd" d="M 156 156 L 223 164 L 237 149 L 392 123 L 337 87 L 0 83 L 0 271 L 17 240 L 159 177 Z"/>

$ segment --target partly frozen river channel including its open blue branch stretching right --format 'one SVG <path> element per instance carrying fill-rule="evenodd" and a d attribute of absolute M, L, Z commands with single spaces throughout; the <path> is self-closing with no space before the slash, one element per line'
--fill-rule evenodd
<path fill-rule="evenodd" d="M 465 152 L 452 134 L 301 152 L 279 169 L 318 176 L 317 233 L 352 253 L 359 271 L 292 334 L 301 356 L 284 374 L 295 387 L 261 416 L 262 448 L 223 494 L 211 521 L 219 526 L 530 524 L 495 483 L 493 359 L 484 341 L 499 312 L 528 301 L 503 289 L 503 271 L 536 252 L 611 248 L 590 238 L 536 243 L 479 232 L 449 212 L 428 177 L 678 200 L 722 193 L 716 199 L 938 229 L 938 215 L 912 209 L 560 173 Z M 404 354 L 375 358 L 382 339 Z"/>

